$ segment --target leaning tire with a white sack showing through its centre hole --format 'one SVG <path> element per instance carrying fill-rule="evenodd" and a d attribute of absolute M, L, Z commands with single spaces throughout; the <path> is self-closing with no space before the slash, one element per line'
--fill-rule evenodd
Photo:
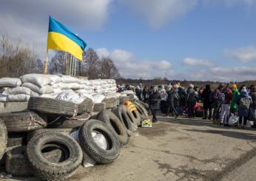
<path fill-rule="evenodd" d="M 107 140 L 107 149 L 100 148 L 92 137 L 92 132 L 101 133 Z M 100 120 L 88 120 L 79 130 L 81 147 L 96 163 L 112 163 L 120 154 L 120 143 L 115 133 Z"/>

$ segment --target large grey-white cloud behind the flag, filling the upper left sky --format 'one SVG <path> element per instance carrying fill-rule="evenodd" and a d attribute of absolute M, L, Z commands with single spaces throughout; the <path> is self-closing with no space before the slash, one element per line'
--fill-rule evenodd
<path fill-rule="evenodd" d="M 2 0 L 0 30 L 34 44 L 44 55 L 47 43 L 48 18 L 53 16 L 78 35 L 81 29 L 99 29 L 106 23 L 113 0 Z M 86 37 L 84 38 L 86 41 Z"/>

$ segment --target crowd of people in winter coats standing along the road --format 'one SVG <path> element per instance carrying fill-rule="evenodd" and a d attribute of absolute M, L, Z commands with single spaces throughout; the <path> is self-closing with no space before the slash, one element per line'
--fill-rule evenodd
<path fill-rule="evenodd" d="M 202 103 L 201 112 L 203 119 L 212 120 L 220 126 L 229 126 L 229 117 L 238 117 L 238 127 L 245 128 L 247 120 L 255 120 L 256 115 L 256 86 L 237 85 L 220 83 L 217 89 L 212 90 L 210 85 L 205 87 L 194 87 L 189 84 L 188 88 L 180 83 L 170 83 L 167 86 L 143 86 L 141 83 L 137 87 L 118 86 L 118 91 L 125 89 L 133 90 L 138 99 L 149 104 L 152 112 L 152 121 L 157 122 L 156 107 L 160 103 L 161 112 L 166 117 L 173 115 L 177 118 L 186 115 L 195 118 L 195 111 Z"/>

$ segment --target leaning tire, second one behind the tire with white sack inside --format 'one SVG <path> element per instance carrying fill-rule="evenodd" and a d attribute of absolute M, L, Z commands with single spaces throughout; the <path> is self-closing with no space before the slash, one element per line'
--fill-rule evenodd
<path fill-rule="evenodd" d="M 126 106 L 118 106 L 116 109 L 113 109 L 112 112 L 121 120 L 124 125 L 124 128 L 127 130 L 127 134 L 132 136 L 132 132 L 135 131 L 135 128 L 132 124 L 132 120 L 130 119 L 130 115 L 128 115 L 129 110 Z"/>

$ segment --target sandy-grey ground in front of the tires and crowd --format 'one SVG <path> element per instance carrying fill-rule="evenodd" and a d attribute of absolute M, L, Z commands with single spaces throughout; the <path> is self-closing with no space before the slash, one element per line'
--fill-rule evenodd
<path fill-rule="evenodd" d="M 240 180 L 238 171 L 244 174 L 248 164 L 255 165 L 255 140 L 255 129 L 220 127 L 209 120 L 159 117 L 151 129 L 139 128 L 130 137 L 115 163 L 80 167 L 69 180 Z M 255 167 L 250 169 L 256 172 Z"/>

